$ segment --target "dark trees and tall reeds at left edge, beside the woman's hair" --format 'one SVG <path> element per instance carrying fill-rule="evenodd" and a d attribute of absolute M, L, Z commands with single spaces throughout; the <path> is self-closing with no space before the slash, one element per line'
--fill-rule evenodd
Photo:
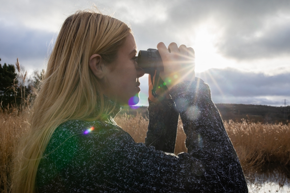
<path fill-rule="evenodd" d="M 28 76 L 18 58 L 15 65 L 4 63 L 3 66 L 0 58 L 0 108 L 23 109 L 30 104 L 43 76 L 44 70 L 34 71 L 32 76 Z"/>

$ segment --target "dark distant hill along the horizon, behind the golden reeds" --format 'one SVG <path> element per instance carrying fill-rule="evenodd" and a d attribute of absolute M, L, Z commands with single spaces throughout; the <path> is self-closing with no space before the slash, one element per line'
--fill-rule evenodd
<path fill-rule="evenodd" d="M 251 120 L 252 122 L 262 123 L 288 123 L 290 120 L 290 106 L 275 107 L 267 105 L 244 105 L 244 104 L 216 104 L 223 120 L 234 120 L 241 122 L 242 119 Z M 286 119 L 284 118 L 284 110 L 286 111 Z M 141 106 L 132 109 L 129 106 L 123 106 L 119 114 L 128 114 L 135 116 L 141 114 L 148 117 L 147 106 Z"/>

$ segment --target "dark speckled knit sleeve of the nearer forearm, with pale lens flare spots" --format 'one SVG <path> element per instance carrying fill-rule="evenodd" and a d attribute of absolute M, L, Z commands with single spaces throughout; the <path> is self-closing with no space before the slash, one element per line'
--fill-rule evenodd
<path fill-rule="evenodd" d="M 209 86 L 184 81 L 171 89 L 171 95 L 183 122 L 188 153 L 216 174 L 225 192 L 248 192 L 240 161 Z"/>

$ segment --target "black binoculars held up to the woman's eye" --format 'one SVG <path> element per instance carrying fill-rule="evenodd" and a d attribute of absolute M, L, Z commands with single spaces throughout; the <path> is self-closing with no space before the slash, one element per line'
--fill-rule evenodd
<path fill-rule="evenodd" d="M 145 74 L 154 75 L 155 70 L 164 70 L 162 59 L 157 49 L 140 50 L 135 60 L 138 67 L 143 68 Z"/>

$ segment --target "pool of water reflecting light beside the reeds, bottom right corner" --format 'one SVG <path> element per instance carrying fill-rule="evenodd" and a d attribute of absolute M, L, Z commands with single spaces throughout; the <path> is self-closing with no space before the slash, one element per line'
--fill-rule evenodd
<path fill-rule="evenodd" d="M 290 193 L 290 167 L 265 165 L 261 171 L 245 175 L 251 193 Z"/>

